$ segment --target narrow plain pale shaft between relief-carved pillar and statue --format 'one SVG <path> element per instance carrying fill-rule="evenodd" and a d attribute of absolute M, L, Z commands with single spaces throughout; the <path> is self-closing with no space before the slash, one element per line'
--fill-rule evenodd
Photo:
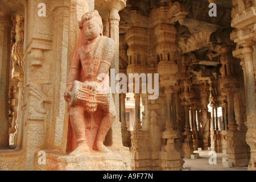
<path fill-rule="evenodd" d="M 53 5 L 54 11 L 54 26 L 55 26 L 55 41 L 54 45 L 56 49 L 53 49 L 53 56 L 55 57 L 55 61 L 53 64 L 53 67 L 56 69 L 56 74 L 53 75 L 53 85 L 55 86 L 54 97 L 53 97 L 53 105 L 52 110 L 54 111 L 51 115 L 53 124 L 51 125 L 49 130 L 52 130 L 54 132 L 51 132 L 49 134 L 49 143 L 48 148 L 51 149 L 59 149 L 65 145 L 63 145 L 64 142 L 62 139 L 65 136 L 65 139 L 67 139 L 67 127 L 66 124 L 67 121 L 67 114 L 66 109 L 66 102 L 64 100 L 64 92 L 67 85 L 67 71 L 69 69 L 69 65 L 67 64 L 69 62 L 68 57 L 68 46 L 69 42 L 67 39 L 67 35 L 73 36 L 75 35 L 75 32 L 69 32 L 69 23 L 76 23 L 75 28 L 79 27 L 78 22 L 69 22 L 69 4 L 68 1 L 56 1 Z M 77 6 L 77 5 L 76 5 Z M 73 11 L 72 7 L 72 11 Z M 75 13 L 75 12 L 74 12 Z M 76 12 L 77 13 L 77 12 Z M 73 13 L 72 13 L 73 14 Z M 73 18 L 73 17 L 72 17 Z M 78 17 L 77 17 L 78 18 Z M 81 19 L 81 17 L 80 17 Z M 73 37 L 75 40 L 76 38 Z M 73 41 L 73 39 L 72 39 Z M 72 45 L 72 46 L 76 46 Z M 65 125 L 66 124 L 66 125 Z M 66 144 L 66 143 L 65 143 Z M 62 150 L 63 148 L 61 148 Z"/>

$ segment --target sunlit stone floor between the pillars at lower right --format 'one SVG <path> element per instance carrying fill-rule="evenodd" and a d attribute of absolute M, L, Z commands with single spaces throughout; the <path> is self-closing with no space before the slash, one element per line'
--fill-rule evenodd
<path fill-rule="evenodd" d="M 203 151 L 194 151 L 194 153 L 199 153 L 198 159 L 183 159 L 185 163 L 183 167 L 192 167 L 192 171 L 247 171 L 247 167 L 224 167 L 222 164 L 222 157 L 226 158 L 226 154 L 217 154 L 217 164 L 209 164 L 209 155 L 208 150 Z"/>

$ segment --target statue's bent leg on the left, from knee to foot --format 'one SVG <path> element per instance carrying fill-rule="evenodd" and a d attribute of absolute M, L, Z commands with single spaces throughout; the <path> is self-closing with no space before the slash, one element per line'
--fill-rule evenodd
<path fill-rule="evenodd" d="M 69 155 L 79 155 L 89 151 L 85 135 L 85 109 L 82 106 L 72 107 L 70 112 L 72 129 L 76 136 L 77 148 Z"/>

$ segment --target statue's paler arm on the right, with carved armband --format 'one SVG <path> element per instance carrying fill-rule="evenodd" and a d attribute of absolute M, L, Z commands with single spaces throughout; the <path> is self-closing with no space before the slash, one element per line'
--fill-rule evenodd
<path fill-rule="evenodd" d="M 101 74 L 108 74 L 110 65 L 115 55 L 115 42 L 113 39 L 107 38 L 103 44 L 102 60 L 97 72 L 97 80 L 101 81 Z"/>

